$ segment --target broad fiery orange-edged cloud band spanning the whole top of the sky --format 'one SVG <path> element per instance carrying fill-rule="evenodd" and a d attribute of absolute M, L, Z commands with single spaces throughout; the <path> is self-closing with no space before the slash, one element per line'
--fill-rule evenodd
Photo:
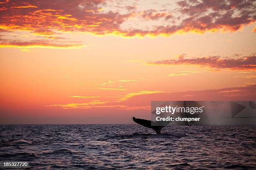
<path fill-rule="evenodd" d="M 3 1 L 0 3 L 0 29 L 26 30 L 48 36 L 56 32 L 125 37 L 169 36 L 179 32 L 233 32 L 256 21 L 255 1 L 248 0 L 182 0 L 172 5 L 176 9 L 167 12 L 165 8 L 139 11 L 131 2 L 131 5 L 126 5 L 125 13 L 114 10 L 115 5 L 108 5 L 111 3 L 109 0 Z M 149 27 L 147 24 L 124 27 L 130 18 L 135 22 L 141 19 L 158 22 Z"/>

